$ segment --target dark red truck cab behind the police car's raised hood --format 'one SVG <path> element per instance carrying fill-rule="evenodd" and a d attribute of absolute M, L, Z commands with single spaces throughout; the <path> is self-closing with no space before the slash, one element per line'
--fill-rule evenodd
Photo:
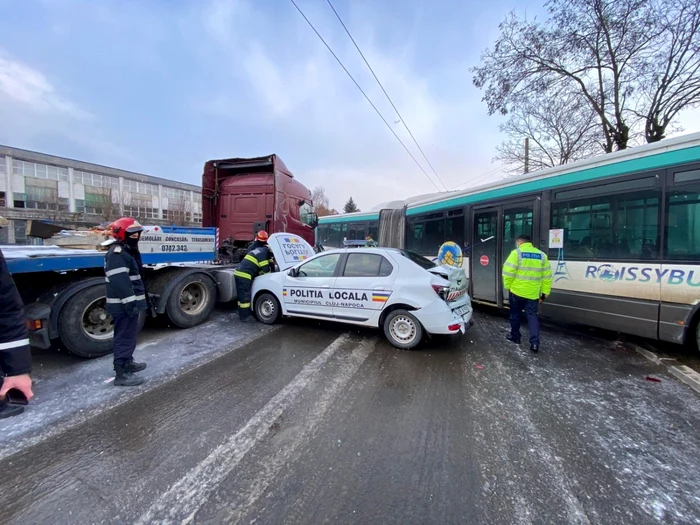
<path fill-rule="evenodd" d="M 210 160 L 202 175 L 202 226 L 219 228 L 233 249 L 259 230 L 289 232 L 312 246 L 318 218 L 311 192 L 277 155 Z"/>

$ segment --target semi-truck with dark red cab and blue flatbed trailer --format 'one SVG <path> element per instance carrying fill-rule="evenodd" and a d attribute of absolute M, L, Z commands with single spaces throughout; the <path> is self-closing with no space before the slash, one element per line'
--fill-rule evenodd
<path fill-rule="evenodd" d="M 139 243 L 155 313 L 179 328 L 204 322 L 217 302 L 236 299 L 233 271 L 256 231 L 288 232 L 314 243 L 311 193 L 277 155 L 209 161 L 202 183 L 203 227 L 147 226 Z M 33 347 L 59 341 L 86 358 L 112 352 L 104 251 L 0 249 L 24 301 Z"/>

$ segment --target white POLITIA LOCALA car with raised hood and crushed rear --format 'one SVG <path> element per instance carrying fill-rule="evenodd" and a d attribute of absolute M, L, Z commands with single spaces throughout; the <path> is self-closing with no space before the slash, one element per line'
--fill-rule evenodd
<path fill-rule="evenodd" d="M 427 334 L 464 333 L 472 305 L 464 270 L 394 248 L 314 253 L 299 236 L 276 233 L 270 248 L 280 271 L 253 281 L 258 320 L 280 316 L 328 319 L 384 329 L 397 348 Z"/>

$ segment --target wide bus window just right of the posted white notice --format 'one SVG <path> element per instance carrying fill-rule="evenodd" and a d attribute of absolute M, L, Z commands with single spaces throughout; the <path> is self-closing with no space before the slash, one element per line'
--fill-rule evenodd
<path fill-rule="evenodd" d="M 656 259 L 659 191 L 553 203 L 551 228 L 564 229 L 567 259 Z"/>

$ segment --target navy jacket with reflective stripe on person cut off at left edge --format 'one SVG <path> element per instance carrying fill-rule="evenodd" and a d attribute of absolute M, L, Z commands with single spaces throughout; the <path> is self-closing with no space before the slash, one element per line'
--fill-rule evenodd
<path fill-rule="evenodd" d="M 32 371 L 24 303 L 0 251 L 0 375 Z"/>

